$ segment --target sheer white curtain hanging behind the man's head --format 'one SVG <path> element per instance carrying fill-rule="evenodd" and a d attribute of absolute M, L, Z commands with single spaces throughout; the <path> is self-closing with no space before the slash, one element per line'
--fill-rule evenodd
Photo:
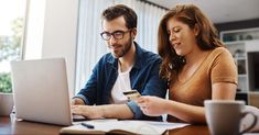
<path fill-rule="evenodd" d="M 75 93 L 84 87 L 98 59 L 109 52 L 99 35 L 101 32 L 100 14 L 106 8 L 118 3 L 132 8 L 138 14 L 136 42 L 141 47 L 157 53 L 158 25 L 166 10 L 140 0 L 80 0 Z"/>

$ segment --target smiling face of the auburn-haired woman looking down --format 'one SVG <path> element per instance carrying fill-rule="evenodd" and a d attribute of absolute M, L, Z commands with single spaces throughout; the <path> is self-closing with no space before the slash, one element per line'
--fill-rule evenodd
<path fill-rule="evenodd" d="M 195 48 L 197 29 L 190 29 L 190 26 L 174 18 L 166 22 L 166 30 L 171 48 L 174 48 L 180 56 L 186 56 Z"/>

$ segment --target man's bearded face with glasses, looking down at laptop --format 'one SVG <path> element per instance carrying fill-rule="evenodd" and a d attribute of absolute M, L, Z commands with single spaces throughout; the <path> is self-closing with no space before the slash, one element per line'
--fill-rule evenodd
<path fill-rule="evenodd" d="M 119 58 L 123 57 L 131 47 L 133 41 L 133 33 L 126 26 L 126 21 L 123 16 L 119 16 L 115 20 L 107 21 L 104 20 L 102 29 L 108 40 L 106 40 L 106 44 L 108 45 L 114 57 Z"/>

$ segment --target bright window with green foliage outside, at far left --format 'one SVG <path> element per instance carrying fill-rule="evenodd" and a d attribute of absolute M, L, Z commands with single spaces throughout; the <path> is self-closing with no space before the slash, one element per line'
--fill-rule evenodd
<path fill-rule="evenodd" d="M 0 92 L 12 92 L 10 61 L 21 59 L 26 0 L 0 1 Z"/>

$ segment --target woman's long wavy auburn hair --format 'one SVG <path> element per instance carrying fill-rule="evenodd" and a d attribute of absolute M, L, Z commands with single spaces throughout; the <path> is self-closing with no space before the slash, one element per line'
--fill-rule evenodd
<path fill-rule="evenodd" d="M 208 50 L 224 45 L 218 38 L 218 33 L 214 24 L 196 5 L 177 4 L 169 10 L 159 24 L 158 52 L 163 59 L 160 66 L 160 77 L 172 82 L 184 66 L 185 59 L 184 56 L 179 56 L 170 45 L 166 23 L 171 18 L 188 25 L 192 30 L 197 25 L 199 31 L 196 36 L 196 42 L 201 49 Z"/>

